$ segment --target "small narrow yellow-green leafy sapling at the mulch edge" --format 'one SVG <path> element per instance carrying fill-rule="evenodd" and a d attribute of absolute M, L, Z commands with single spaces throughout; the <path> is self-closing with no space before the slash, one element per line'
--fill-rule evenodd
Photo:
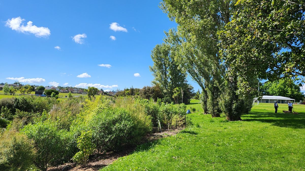
<path fill-rule="evenodd" d="M 95 149 L 95 144 L 92 143 L 92 132 L 82 131 L 81 135 L 77 138 L 77 148 L 80 150 L 73 156 L 73 160 L 77 163 L 83 163 L 86 166 L 86 162 Z"/>

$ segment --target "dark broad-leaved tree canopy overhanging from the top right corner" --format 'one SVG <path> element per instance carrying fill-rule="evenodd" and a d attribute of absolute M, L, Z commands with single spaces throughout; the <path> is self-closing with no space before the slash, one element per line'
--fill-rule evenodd
<path fill-rule="evenodd" d="M 239 0 L 220 32 L 221 46 L 233 70 L 269 81 L 305 82 L 305 3 L 303 0 Z"/>

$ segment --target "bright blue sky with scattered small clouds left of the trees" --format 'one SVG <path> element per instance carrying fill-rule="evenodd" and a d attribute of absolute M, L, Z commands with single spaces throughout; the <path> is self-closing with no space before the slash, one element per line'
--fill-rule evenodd
<path fill-rule="evenodd" d="M 0 1 L 0 82 L 150 85 L 151 50 L 176 26 L 159 2 Z"/>

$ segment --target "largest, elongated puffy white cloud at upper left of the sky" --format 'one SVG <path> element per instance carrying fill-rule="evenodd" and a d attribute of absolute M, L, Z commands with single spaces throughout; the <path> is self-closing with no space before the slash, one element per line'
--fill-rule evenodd
<path fill-rule="evenodd" d="M 12 30 L 16 30 L 17 32 L 22 33 L 32 33 L 36 37 L 48 37 L 50 36 L 51 32 L 48 27 L 37 27 L 33 26 L 33 22 L 29 21 L 27 22 L 27 25 L 24 26 L 22 22 L 25 21 L 25 19 L 21 19 L 21 17 L 8 19 L 5 22 L 5 26 L 11 28 Z"/>

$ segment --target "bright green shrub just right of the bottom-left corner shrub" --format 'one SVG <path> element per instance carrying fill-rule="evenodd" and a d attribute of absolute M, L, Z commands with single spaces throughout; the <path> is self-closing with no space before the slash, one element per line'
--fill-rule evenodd
<path fill-rule="evenodd" d="M 61 131 L 55 123 L 50 121 L 38 122 L 35 125 L 26 125 L 22 131 L 34 141 L 37 149 L 34 164 L 39 169 L 46 171 L 51 164 L 56 164 L 63 159 L 65 151 Z"/>

